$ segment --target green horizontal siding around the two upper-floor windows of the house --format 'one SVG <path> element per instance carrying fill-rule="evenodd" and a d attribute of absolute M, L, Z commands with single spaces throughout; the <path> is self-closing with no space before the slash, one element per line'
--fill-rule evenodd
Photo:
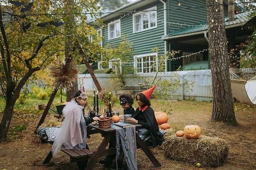
<path fill-rule="evenodd" d="M 144 8 L 137 8 L 136 11 L 145 10 L 157 6 L 157 9 L 163 9 L 163 3 L 157 1 L 156 3 L 151 3 Z M 135 10 L 135 9 L 134 9 Z M 119 18 L 115 18 L 116 20 Z M 112 21 L 114 21 L 113 19 Z M 163 11 L 157 11 L 157 20 L 163 20 Z M 111 21 L 105 22 L 105 24 L 110 23 Z M 133 15 L 130 14 L 121 19 L 121 34 L 127 36 L 128 40 L 133 43 L 134 46 L 134 55 L 139 54 L 148 54 L 154 51 L 151 51 L 151 48 L 158 47 L 159 55 L 164 54 L 164 41 L 161 38 L 164 35 L 164 26 L 163 22 L 157 21 L 157 28 L 153 28 L 147 31 L 141 31 L 138 33 L 133 33 Z M 111 47 L 115 47 L 121 38 L 116 38 L 113 40 L 108 40 L 108 26 L 102 30 L 103 36 L 103 46 L 107 44 Z M 133 61 L 133 56 L 130 56 L 131 61 Z"/>

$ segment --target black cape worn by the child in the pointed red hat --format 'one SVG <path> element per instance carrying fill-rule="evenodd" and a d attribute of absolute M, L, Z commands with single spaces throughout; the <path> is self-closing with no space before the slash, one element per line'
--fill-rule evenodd
<path fill-rule="evenodd" d="M 138 113 L 140 113 L 139 108 L 136 109 L 132 117 L 136 116 Z M 158 145 L 161 145 L 163 143 L 164 138 L 163 133 L 159 131 L 157 119 L 154 116 L 154 111 L 150 106 L 148 106 L 148 108 L 146 108 L 143 113 L 143 115 L 145 116 L 145 120 L 150 128 L 149 131 L 151 135 L 151 144 L 153 147 L 157 147 Z"/>

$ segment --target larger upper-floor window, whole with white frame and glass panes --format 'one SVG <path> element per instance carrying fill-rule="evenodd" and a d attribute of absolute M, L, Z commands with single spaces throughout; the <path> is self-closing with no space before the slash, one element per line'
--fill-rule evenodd
<path fill-rule="evenodd" d="M 154 10 L 153 8 L 146 9 Z M 133 14 L 133 32 L 141 32 L 149 29 L 157 28 L 157 11 L 147 11 L 140 14 Z"/>

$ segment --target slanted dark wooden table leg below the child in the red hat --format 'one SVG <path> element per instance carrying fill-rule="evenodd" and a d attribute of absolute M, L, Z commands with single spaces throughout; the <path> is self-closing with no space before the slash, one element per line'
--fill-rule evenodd
<path fill-rule="evenodd" d="M 161 167 L 161 164 L 159 161 L 157 161 L 156 157 L 153 155 L 153 153 L 148 149 L 147 144 L 140 138 L 140 136 L 136 133 L 136 142 L 140 146 L 140 148 L 143 150 L 143 152 L 148 156 L 148 159 L 154 164 L 155 167 Z"/>

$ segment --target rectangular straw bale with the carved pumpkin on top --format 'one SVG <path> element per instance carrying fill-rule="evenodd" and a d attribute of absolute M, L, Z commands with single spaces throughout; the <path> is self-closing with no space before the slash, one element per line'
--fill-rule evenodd
<path fill-rule="evenodd" d="M 187 139 L 169 135 L 165 139 L 161 147 L 166 157 L 190 164 L 200 163 L 204 167 L 218 167 L 225 162 L 229 151 L 227 142 L 218 137 Z"/>

